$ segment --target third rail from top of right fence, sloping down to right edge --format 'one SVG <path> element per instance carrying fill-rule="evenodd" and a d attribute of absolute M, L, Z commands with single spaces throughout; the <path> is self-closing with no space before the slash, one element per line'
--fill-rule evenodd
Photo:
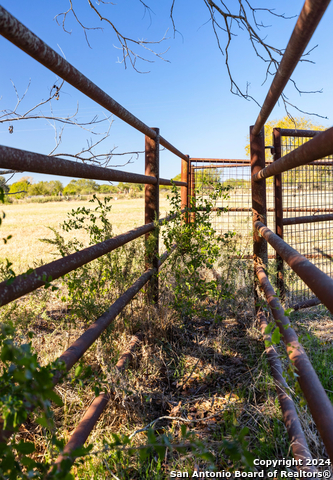
<path fill-rule="evenodd" d="M 254 228 L 278 252 L 285 262 L 333 313 L 333 279 L 273 233 L 262 222 L 255 221 Z"/>

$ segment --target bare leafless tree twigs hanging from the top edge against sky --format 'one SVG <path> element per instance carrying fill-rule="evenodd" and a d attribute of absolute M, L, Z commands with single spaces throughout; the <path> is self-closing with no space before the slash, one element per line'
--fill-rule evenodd
<path fill-rule="evenodd" d="M 66 20 L 69 14 L 73 15 L 75 20 L 79 23 L 79 25 L 83 28 L 87 42 L 88 37 L 87 33 L 89 30 L 102 30 L 102 27 L 87 27 L 82 23 L 80 20 L 77 10 L 78 7 L 73 7 L 73 0 L 68 0 L 69 1 L 69 8 L 67 11 L 58 14 L 55 18 L 58 22 L 58 24 L 62 25 L 63 29 L 65 31 L 69 32 L 66 29 Z M 92 9 L 96 17 L 103 23 L 107 24 L 108 26 L 111 27 L 113 32 L 116 34 L 117 40 L 120 44 L 120 46 L 116 47 L 119 48 L 122 51 L 122 59 L 119 60 L 120 63 L 124 63 L 125 68 L 127 67 L 127 62 L 130 62 L 132 67 L 138 71 L 139 73 L 146 73 L 146 72 L 141 72 L 137 69 L 136 67 L 136 62 L 137 60 L 143 60 L 145 62 L 152 62 L 150 58 L 147 58 L 145 55 L 138 54 L 136 51 L 136 47 L 143 48 L 146 50 L 146 53 L 152 54 L 153 57 L 155 58 L 161 58 L 162 60 L 165 60 L 163 58 L 163 53 L 158 53 L 154 50 L 154 45 L 161 43 L 162 41 L 166 40 L 166 36 L 159 40 L 159 41 L 148 41 L 148 40 L 135 40 L 134 38 L 130 38 L 126 35 L 124 35 L 122 32 L 119 31 L 117 25 L 110 20 L 111 14 L 106 17 L 105 15 L 102 14 L 101 6 L 102 5 L 109 5 L 111 8 L 114 8 L 116 5 L 112 2 L 107 2 L 107 1 L 97 1 L 93 2 L 93 0 L 86 0 L 89 7 Z M 144 2 L 143 0 L 139 0 L 139 2 L 143 5 L 145 9 L 145 13 L 148 12 L 150 15 L 150 20 L 151 20 L 151 13 L 152 10 L 147 2 Z M 227 73 L 229 76 L 230 80 L 230 91 L 231 93 L 238 95 L 245 100 L 253 100 L 255 103 L 257 103 L 258 106 L 259 103 L 258 101 L 249 94 L 249 82 L 246 82 L 245 88 L 242 87 L 239 82 L 235 79 L 233 69 L 230 66 L 230 47 L 232 44 L 232 40 L 234 37 L 238 35 L 237 30 L 241 30 L 245 33 L 247 33 L 248 40 L 250 41 L 250 44 L 252 46 L 252 49 L 255 53 L 255 55 L 262 60 L 264 63 L 267 64 L 266 66 L 266 72 L 265 72 L 265 78 L 263 83 L 265 83 L 270 75 L 275 75 L 279 63 L 281 61 L 281 58 L 284 54 L 284 50 L 277 48 L 271 44 L 269 44 L 266 41 L 266 37 L 262 34 L 262 30 L 266 30 L 270 25 L 264 23 L 262 20 L 262 16 L 267 16 L 271 18 L 276 18 L 276 19 L 283 19 L 283 20 L 290 20 L 292 18 L 297 17 L 297 15 L 293 16 L 288 16 L 285 13 L 278 13 L 275 11 L 274 8 L 268 8 L 268 7 L 255 7 L 253 5 L 252 0 L 203 0 L 204 4 L 206 5 L 208 12 L 209 12 L 209 21 L 212 25 L 213 32 L 215 34 L 215 38 L 217 41 L 218 48 L 222 55 L 225 57 L 225 65 L 227 69 Z M 173 36 L 175 37 L 176 33 L 179 33 L 179 30 L 176 27 L 176 21 L 175 21 L 175 6 L 176 6 L 176 0 L 171 0 L 171 5 L 170 5 L 170 20 L 172 24 L 172 29 L 173 29 Z M 62 21 L 60 22 L 60 19 Z M 316 47 L 314 47 L 316 48 Z M 307 53 L 305 53 L 300 61 L 303 62 L 311 62 L 307 57 L 313 48 L 309 50 Z M 298 93 L 319 93 L 318 91 L 310 91 L 306 92 L 301 90 L 295 83 L 293 79 L 290 80 L 290 82 L 293 84 L 293 86 L 296 88 L 296 91 Z M 285 109 L 288 112 L 288 106 L 293 106 L 291 103 L 285 102 L 285 98 L 282 97 L 282 101 L 284 103 Z M 308 113 L 308 112 L 304 112 Z M 308 113 L 310 114 L 310 113 Z M 318 115 L 320 116 L 320 115 Z M 321 117 L 321 116 L 320 116 Z"/>

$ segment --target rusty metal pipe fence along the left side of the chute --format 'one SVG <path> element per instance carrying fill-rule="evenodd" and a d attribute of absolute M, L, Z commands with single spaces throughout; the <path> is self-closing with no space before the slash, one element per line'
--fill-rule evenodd
<path fill-rule="evenodd" d="M 123 293 L 111 307 L 99 317 L 81 336 L 78 338 L 58 359 L 59 366 L 65 366 L 65 372 L 68 372 L 73 365 L 85 354 L 90 346 L 100 337 L 105 329 L 113 322 L 119 313 L 129 304 L 135 295 L 148 283 L 148 299 L 157 304 L 158 302 L 158 280 L 157 273 L 163 262 L 172 253 L 176 246 L 170 252 L 165 252 L 159 257 L 158 225 L 164 224 L 174 218 L 174 215 L 164 219 L 159 219 L 159 186 L 176 185 L 181 187 L 183 204 L 188 205 L 188 175 L 182 176 L 182 181 L 171 181 L 159 178 L 159 146 L 162 145 L 169 151 L 181 158 L 182 170 L 186 172 L 189 162 L 188 155 L 184 155 L 171 143 L 165 140 L 159 134 L 159 129 L 150 128 L 141 120 L 132 115 L 128 110 L 113 100 L 106 92 L 97 87 L 87 77 L 80 73 L 69 62 L 60 57 L 54 50 L 46 45 L 40 38 L 34 35 L 28 28 L 20 23 L 16 18 L 10 15 L 2 6 L 0 6 L 0 33 L 10 42 L 25 51 L 39 63 L 49 70 L 56 73 L 65 81 L 70 83 L 77 90 L 81 91 L 89 98 L 117 115 L 123 121 L 134 127 L 136 130 L 145 134 L 145 175 L 122 172 L 110 168 L 87 165 L 79 162 L 64 160 L 57 157 L 38 154 L 36 152 L 27 152 L 15 148 L 0 146 L 0 168 L 9 168 L 16 171 L 27 171 L 43 173 L 48 175 L 60 175 L 76 178 L 88 178 L 94 180 L 132 182 L 145 184 L 145 225 L 135 228 L 127 233 L 117 235 L 99 244 L 92 245 L 81 251 L 65 256 L 42 267 L 36 268 L 30 274 L 19 275 L 9 285 L 8 282 L 0 284 L 0 304 L 4 306 L 13 300 L 16 300 L 37 288 L 49 284 L 67 273 L 106 255 L 113 250 L 133 241 L 143 235 L 148 240 L 148 236 L 153 235 L 153 249 L 146 247 L 145 269 L 141 277 Z M 156 223 L 157 222 L 157 223 Z M 119 369 L 123 369 L 123 366 Z M 64 369 L 54 372 L 53 383 L 56 385 L 64 375 Z M 97 401 L 97 400 L 96 400 Z M 105 396 L 98 400 L 98 411 L 101 413 L 107 403 Z M 27 410 L 29 411 L 27 405 Z M 95 412 L 96 413 L 96 412 Z M 89 428 L 85 426 L 87 433 L 82 442 L 89 435 L 94 427 L 99 415 L 89 417 Z M 85 417 L 85 421 L 87 418 Z M 4 431 L 3 423 L 0 422 L 0 443 L 6 442 L 12 431 Z M 82 444 L 83 444 L 82 443 Z"/>

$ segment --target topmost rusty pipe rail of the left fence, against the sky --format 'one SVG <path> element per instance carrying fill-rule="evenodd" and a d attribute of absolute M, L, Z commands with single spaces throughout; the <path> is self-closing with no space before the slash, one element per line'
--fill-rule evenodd
<path fill-rule="evenodd" d="M 48 68 L 84 95 L 94 100 L 94 102 L 121 118 L 121 120 L 128 123 L 128 125 L 131 125 L 136 130 L 139 130 L 141 133 L 144 133 L 152 139 L 156 138 L 156 132 L 152 128 L 148 127 L 112 97 L 107 95 L 101 88 L 56 53 L 1 5 L 0 34 L 27 53 L 30 57 L 34 58 L 37 62 L 44 65 L 44 67 Z M 186 155 L 161 136 L 160 144 L 178 157 L 188 161 Z"/>

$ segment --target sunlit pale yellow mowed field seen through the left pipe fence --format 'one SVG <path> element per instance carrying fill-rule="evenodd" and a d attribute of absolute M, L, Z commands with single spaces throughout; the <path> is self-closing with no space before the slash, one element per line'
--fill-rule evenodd
<path fill-rule="evenodd" d="M 13 263 L 15 273 L 22 273 L 39 264 L 41 260 L 50 262 L 56 257 L 52 254 L 55 247 L 41 242 L 42 238 L 54 238 L 48 228 L 57 229 L 66 239 L 74 236 L 86 242 L 85 232 L 72 233 L 60 231 L 59 225 L 67 218 L 67 213 L 78 207 L 95 208 L 95 204 L 86 201 L 20 203 L 2 205 L 6 215 L 0 230 L 0 259 Z M 126 232 L 144 224 L 144 199 L 111 200 L 112 210 L 109 216 L 115 234 Z M 169 209 L 166 197 L 160 198 L 160 216 L 164 217 Z M 2 238 L 12 235 L 7 244 Z"/>

